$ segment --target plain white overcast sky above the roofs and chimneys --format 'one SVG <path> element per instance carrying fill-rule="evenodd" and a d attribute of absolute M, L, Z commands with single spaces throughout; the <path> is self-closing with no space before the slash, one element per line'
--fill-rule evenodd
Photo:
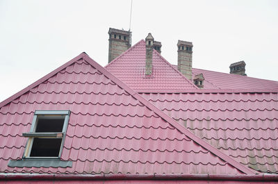
<path fill-rule="evenodd" d="M 131 0 L 0 0 L 0 101 L 85 51 L 105 66 L 108 29 L 129 29 Z M 152 33 L 177 64 L 177 40 L 193 42 L 193 67 L 278 81 L 278 1 L 133 0 L 132 44 Z"/>

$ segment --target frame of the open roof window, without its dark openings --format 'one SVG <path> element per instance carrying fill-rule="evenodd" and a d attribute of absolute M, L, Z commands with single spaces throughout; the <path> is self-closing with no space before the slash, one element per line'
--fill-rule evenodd
<path fill-rule="evenodd" d="M 55 116 L 61 116 L 64 117 L 64 124 L 63 124 L 63 130 L 60 133 L 36 133 L 35 128 L 38 125 L 38 119 L 39 117 L 43 116 L 49 116 L 51 119 Z M 60 158 L 63 152 L 63 146 L 65 142 L 65 133 L 67 132 L 67 125 L 70 119 L 70 110 L 35 110 L 33 121 L 31 125 L 30 132 L 28 133 L 22 133 L 24 137 L 28 137 L 28 140 L 26 142 L 26 147 L 24 150 L 23 158 L 32 158 L 32 159 L 54 159 L 54 158 Z M 61 137 L 62 136 L 62 137 Z M 38 157 L 38 156 L 30 156 L 31 150 L 33 147 L 33 140 L 35 137 L 44 137 L 44 138 L 61 138 L 61 144 L 60 144 L 60 150 L 57 157 Z"/>

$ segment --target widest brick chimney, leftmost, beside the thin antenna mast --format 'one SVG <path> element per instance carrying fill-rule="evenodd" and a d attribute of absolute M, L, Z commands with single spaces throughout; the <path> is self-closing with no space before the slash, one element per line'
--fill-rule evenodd
<path fill-rule="evenodd" d="M 115 28 L 109 28 L 108 62 L 111 62 L 121 53 L 131 47 L 131 32 Z"/>

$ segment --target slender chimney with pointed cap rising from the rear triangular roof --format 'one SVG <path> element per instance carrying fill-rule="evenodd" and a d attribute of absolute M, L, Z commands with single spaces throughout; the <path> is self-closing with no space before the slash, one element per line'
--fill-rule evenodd
<path fill-rule="evenodd" d="M 154 49 L 154 37 L 149 33 L 145 39 L 146 42 L 146 66 L 145 76 L 152 76 L 152 51 Z"/>

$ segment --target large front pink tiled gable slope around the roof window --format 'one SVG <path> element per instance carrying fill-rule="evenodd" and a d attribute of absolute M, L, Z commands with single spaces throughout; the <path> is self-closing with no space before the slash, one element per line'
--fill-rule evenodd
<path fill-rule="evenodd" d="M 85 53 L 0 104 L 0 172 L 254 174 L 165 115 Z M 21 159 L 35 110 L 71 110 L 67 168 L 8 167 Z M 240 169 L 240 170 L 238 170 Z M 241 171 L 241 172 L 240 172 Z"/>

